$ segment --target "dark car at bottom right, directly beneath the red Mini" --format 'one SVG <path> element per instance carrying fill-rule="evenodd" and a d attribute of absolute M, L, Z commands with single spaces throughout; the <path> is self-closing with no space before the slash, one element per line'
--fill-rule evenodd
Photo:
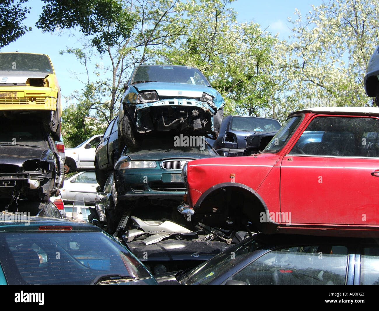
<path fill-rule="evenodd" d="M 379 284 L 376 239 L 262 233 L 160 284 Z"/>

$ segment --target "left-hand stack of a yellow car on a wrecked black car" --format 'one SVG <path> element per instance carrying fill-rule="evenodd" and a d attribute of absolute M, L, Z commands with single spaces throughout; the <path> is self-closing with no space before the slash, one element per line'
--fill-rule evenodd
<path fill-rule="evenodd" d="M 64 179 L 54 68 L 47 55 L 0 53 L 0 77 L 0 207 L 48 202 Z"/>

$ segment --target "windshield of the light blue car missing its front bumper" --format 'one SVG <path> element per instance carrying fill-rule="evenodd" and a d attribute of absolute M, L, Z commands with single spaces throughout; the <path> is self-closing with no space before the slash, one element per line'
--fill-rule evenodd
<path fill-rule="evenodd" d="M 133 83 L 168 82 L 210 86 L 199 69 L 186 66 L 139 66 L 132 77 Z"/>

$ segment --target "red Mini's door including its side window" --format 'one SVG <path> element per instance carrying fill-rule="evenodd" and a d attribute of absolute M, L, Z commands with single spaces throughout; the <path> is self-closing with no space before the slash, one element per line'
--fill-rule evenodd
<path fill-rule="evenodd" d="M 292 225 L 379 224 L 378 138 L 378 118 L 310 119 L 282 159 L 281 214 Z"/>

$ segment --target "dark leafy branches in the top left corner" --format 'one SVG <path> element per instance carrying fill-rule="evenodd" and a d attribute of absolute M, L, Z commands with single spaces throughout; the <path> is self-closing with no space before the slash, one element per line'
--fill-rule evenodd
<path fill-rule="evenodd" d="M 0 49 L 31 30 L 23 25 L 30 13 L 26 2 L 28 0 L 0 0 Z"/>

